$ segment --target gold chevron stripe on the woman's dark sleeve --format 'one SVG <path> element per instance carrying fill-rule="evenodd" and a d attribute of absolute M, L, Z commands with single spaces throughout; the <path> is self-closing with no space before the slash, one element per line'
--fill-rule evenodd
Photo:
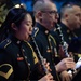
<path fill-rule="evenodd" d="M 2 76 L 2 77 L 5 78 L 5 79 L 9 79 L 9 77 L 10 77 L 10 76 L 12 75 L 12 72 L 13 72 L 13 67 L 12 67 L 10 64 L 3 64 L 3 65 L 0 66 L 0 68 L 3 67 L 3 66 L 9 66 L 10 69 L 9 69 L 9 71 L 8 71 L 6 73 L 3 72 L 3 71 L 0 71 L 0 76 Z"/>

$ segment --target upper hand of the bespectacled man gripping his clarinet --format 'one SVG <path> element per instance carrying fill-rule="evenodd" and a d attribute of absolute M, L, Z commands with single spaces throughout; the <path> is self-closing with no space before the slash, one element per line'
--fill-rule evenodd
<path fill-rule="evenodd" d="M 57 72 L 62 72 L 67 69 L 73 69 L 76 66 L 76 63 L 73 62 L 73 58 L 67 57 L 62 59 L 55 67 Z"/>

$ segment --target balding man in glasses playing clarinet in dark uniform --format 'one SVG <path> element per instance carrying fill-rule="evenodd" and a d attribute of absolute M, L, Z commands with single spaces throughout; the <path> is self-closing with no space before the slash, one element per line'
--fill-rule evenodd
<path fill-rule="evenodd" d="M 32 36 L 36 39 L 41 55 L 46 58 L 48 62 L 50 62 L 50 67 L 52 68 L 54 79 L 56 79 L 56 81 L 59 81 L 57 73 L 68 68 L 73 68 L 75 63 L 72 58 L 64 58 L 57 65 L 54 65 L 55 57 L 58 56 L 58 43 L 55 40 L 56 35 L 51 32 L 51 29 L 54 27 L 58 18 L 56 5 L 51 1 L 37 1 L 33 5 L 33 12 L 36 25 L 33 27 Z M 33 49 L 37 52 L 37 49 L 35 46 Z"/>

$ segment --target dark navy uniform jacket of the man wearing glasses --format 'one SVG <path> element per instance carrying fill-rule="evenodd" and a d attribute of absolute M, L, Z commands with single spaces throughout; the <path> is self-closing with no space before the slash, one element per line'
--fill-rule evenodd
<path fill-rule="evenodd" d="M 36 24 L 36 27 L 33 27 L 32 37 L 35 38 L 37 45 L 39 48 L 39 51 L 43 58 L 46 58 L 46 60 L 50 63 L 50 67 L 52 69 L 52 75 L 54 76 L 54 79 L 58 81 L 58 76 L 54 67 L 55 57 L 58 56 L 57 54 L 57 44 L 52 36 L 52 32 L 45 29 L 42 25 L 39 23 Z M 36 46 L 32 44 L 35 51 L 37 52 Z M 38 52 L 37 52 L 38 54 Z M 39 54 L 38 54 L 39 57 Z"/>

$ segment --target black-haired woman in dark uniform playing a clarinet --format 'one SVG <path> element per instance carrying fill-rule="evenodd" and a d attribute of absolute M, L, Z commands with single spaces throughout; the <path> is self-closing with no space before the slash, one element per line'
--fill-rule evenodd
<path fill-rule="evenodd" d="M 51 73 L 44 76 L 33 49 L 27 42 L 31 32 L 30 14 L 23 6 L 12 8 L 0 32 L 0 81 L 54 81 Z"/>

